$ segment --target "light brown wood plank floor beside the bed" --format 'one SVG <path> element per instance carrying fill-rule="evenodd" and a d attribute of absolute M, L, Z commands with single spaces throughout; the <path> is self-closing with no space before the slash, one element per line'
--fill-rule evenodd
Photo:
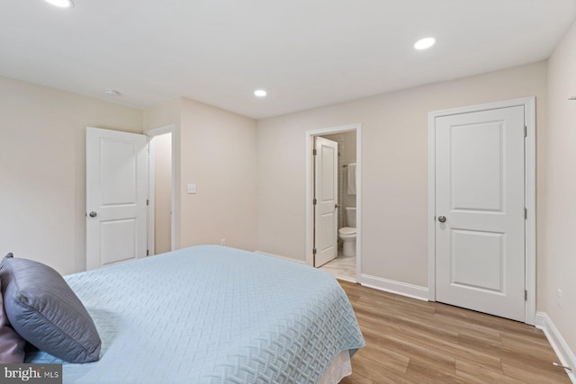
<path fill-rule="evenodd" d="M 341 384 L 571 382 L 534 326 L 339 282 L 366 341 Z"/>

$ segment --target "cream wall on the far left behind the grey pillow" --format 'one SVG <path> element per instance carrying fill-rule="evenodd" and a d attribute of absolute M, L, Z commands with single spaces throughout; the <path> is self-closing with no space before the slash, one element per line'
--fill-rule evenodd
<path fill-rule="evenodd" d="M 85 270 L 85 127 L 141 132 L 141 111 L 0 76 L 0 256 Z"/>

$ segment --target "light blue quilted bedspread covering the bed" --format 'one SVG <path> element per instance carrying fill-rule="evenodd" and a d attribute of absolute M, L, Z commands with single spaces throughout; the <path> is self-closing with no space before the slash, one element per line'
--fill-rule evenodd
<path fill-rule="evenodd" d="M 266 255 L 193 246 L 65 279 L 103 343 L 65 383 L 316 383 L 365 345 L 332 275 Z"/>

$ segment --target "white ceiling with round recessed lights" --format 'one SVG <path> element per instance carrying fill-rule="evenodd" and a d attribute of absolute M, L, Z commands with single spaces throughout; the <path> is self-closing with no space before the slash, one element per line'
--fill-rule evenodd
<path fill-rule="evenodd" d="M 543 60 L 576 17 L 574 0 L 74 2 L 0 0 L 0 75 L 255 119 Z"/>

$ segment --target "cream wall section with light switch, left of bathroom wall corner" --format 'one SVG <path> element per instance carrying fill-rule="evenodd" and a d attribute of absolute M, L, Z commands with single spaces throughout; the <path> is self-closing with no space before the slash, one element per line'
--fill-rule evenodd
<path fill-rule="evenodd" d="M 253 119 L 182 99 L 181 246 L 255 250 L 256 129 Z M 196 194 L 186 193 L 195 183 Z"/>

